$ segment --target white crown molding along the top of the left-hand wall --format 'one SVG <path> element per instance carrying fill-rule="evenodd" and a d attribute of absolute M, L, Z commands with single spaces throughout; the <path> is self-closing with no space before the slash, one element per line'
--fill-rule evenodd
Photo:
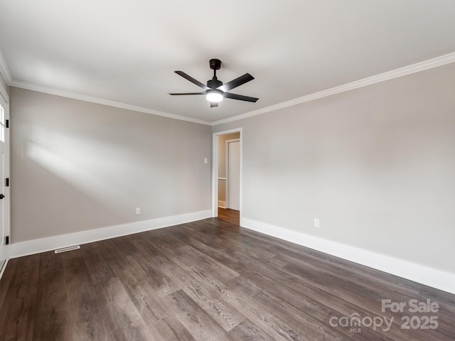
<path fill-rule="evenodd" d="M 120 109 L 132 110 L 133 112 L 144 112 L 145 114 L 167 117 L 168 119 L 178 119 L 181 121 L 188 121 L 191 123 L 204 124 L 206 126 L 210 126 L 212 124 L 212 122 L 203 121 L 202 119 L 193 119 L 192 117 L 185 117 L 185 116 L 181 116 L 181 115 L 170 114 L 168 112 L 160 112 L 159 110 L 148 109 L 148 108 L 144 108 L 144 107 L 137 107 L 132 104 L 114 102 L 114 101 L 110 101 L 109 99 L 102 99 L 102 98 L 98 98 L 98 97 L 87 96 L 85 94 L 78 94 L 76 92 L 58 90 L 58 89 L 54 89 L 52 87 L 45 87 L 43 85 L 36 85 L 33 83 L 28 83 L 28 82 L 21 82 L 18 80 L 12 80 L 9 85 L 11 87 L 20 87 L 21 89 L 43 92 L 45 94 L 54 94 L 55 96 L 68 97 L 68 98 L 72 98 L 72 99 L 78 99 L 80 101 L 107 105 L 109 107 L 116 107 L 116 108 L 120 108 Z"/>

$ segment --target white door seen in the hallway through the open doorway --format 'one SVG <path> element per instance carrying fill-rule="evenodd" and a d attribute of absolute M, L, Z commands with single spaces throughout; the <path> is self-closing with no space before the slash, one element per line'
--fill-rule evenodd
<path fill-rule="evenodd" d="M 228 195 L 227 206 L 240 211 L 240 141 L 228 140 Z"/>

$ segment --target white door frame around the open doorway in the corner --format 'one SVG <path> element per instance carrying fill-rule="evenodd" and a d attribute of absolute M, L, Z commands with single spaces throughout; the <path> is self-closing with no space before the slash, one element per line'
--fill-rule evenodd
<path fill-rule="evenodd" d="M 242 225 L 242 128 L 213 133 L 212 141 L 212 217 L 218 217 L 218 136 L 240 133 L 240 226 Z"/>

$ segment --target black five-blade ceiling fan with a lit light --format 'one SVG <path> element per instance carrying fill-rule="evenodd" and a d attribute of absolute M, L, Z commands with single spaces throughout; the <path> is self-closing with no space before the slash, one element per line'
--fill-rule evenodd
<path fill-rule="evenodd" d="M 221 67 L 221 60 L 219 59 L 210 59 L 210 69 L 213 70 L 213 78 L 207 81 L 207 85 L 195 80 L 193 77 L 188 76 L 183 71 L 174 71 L 177 75 L 181 75 L 186 80 L 198 85 L 198 87 L 203 88 L 203 92 L 184 92 L 179 94 L 171 94 L 171 95 L 183 95 L 183 94 L 205 94 L 205 98 L 210 102 L 210 108 L 218 107 L 218 102 L 223 101 L 223 98 L 230 98 L 230 99 L 238 99 L 240 101 L 246 102 L 256 102 L 256 97 L 248 97 L 243 96 L 241 94 L 231 94 L 228 92 L 229 90 L 234 89 L 235 87 L 240 87 L 240 85 L 245 84 L 246 82 L 250 82 L 250 80 L 254 80 L 255 77 L 250 75 L 249 73 L 245 73 L 235 80 L 231 80 L 226 84 L 223 84 L 218 78 L 216 77 L 216 70 L 220 70 Z"/>

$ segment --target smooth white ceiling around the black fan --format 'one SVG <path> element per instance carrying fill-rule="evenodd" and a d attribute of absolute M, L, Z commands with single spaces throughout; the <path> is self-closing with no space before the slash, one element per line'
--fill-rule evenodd
<path fill-rule="evenodd" d="M 455 1 L 0 0 L 0 51 L 10 85 L 213 122 L 454 53 Z M 259 101 L 168 94 L 210 58 Z"/>

